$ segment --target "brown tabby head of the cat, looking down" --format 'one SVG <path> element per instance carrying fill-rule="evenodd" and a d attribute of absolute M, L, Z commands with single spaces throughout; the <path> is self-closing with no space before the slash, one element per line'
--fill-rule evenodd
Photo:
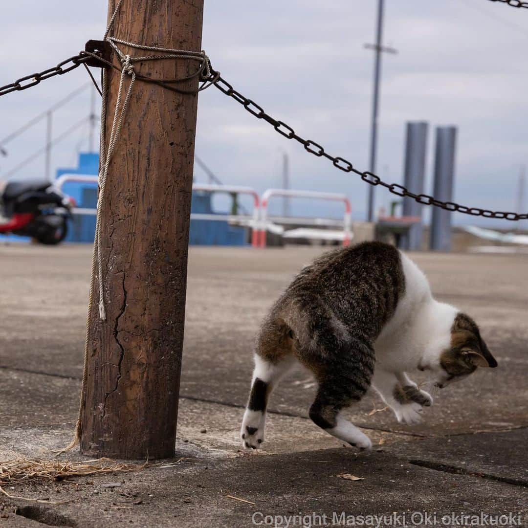
<path fill-rule="evenodd" d="M 477 367 L 497 366 L 489 352 L 475 321 L 466 314 L 458 313 L 451 326 L 450 346 L 440 354 L 440 372 L 436 380 L 441 389 L 454 381 L 463 380 Z"/>

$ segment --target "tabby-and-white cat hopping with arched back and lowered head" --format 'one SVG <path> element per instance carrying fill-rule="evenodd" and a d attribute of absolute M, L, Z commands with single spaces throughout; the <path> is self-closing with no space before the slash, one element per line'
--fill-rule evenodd
<path fill-rule="evenodd" d="M 372 449 L 343 410 L 369 386 L 399 422 L 421 420 L 429 393 L 406 372 L 430 371 L 439 388 L 477 367 L 496 367 L 472 318 L 433 299 L 422 271 L 398 249 L 363 242 L 323 254 L 305 267 L 263 321 L 242 421 L 246 448 L 264 440 L 269 394 L 296 363 L 318 383 L 309 417 L 334 437 Z"/>

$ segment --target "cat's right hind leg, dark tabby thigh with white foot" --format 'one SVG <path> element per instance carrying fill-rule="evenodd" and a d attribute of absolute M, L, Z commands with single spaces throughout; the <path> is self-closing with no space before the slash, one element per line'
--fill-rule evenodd
<path fill-rule="evenodd" d="M 309 416 L 313 422 L 340 440 L 360 449 L 372 442 L 343 417 L 343 410 L 361 400 L 369 389 L 374 369 L 374 351 L 360 341 L 343 345 L 323 362 L 312 363 L 319 389 Z"/>

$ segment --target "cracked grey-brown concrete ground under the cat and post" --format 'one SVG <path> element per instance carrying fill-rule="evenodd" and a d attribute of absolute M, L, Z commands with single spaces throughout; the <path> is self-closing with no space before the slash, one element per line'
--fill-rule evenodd
<path fill-rule="evenodd" d="M 361 515 L 392 516 L 363 524 L 469 525 L 462 514 L 528 524 L 528 256 L 412 255 L 438 298 L 477 319 L 499 363 L 441 391 L 422 425 L 399 425 L 369 393 L 350 411 L 375 445 L 359 454 L 307 419 L 315 386 L 297 372 L 272 395 L 263 450 L 239 450 L 258 324 L 319 252 L 191 248 L 178 463 L 4 488 L 59 504 L 3 497 L 0 528 L 346 526 Z M 0 246 L 0 466 L 49 457 L 42 448 L 71 438 L 90 258 L 86 246 Z"/>

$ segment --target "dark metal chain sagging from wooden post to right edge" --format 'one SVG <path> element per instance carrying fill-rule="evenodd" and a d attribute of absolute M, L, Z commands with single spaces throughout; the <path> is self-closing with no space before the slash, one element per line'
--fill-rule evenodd
<path fill-rule="evenodd" d="M 506 0 L 498 0 L 505 2 Z M 516 0 L 514 0 L 516 1 Z M 319 145 L 311 139 L 305 139 L 295 133 L 295 130 L 287 125 L 283 121 L 278 121 L 271 117 L 269 114 L 266 114 L 264 109 L 257 105 L 256 102 L 248 99 L 243 96 L 240 92 L 235 90 L 229 82 L 223 79 L 220 76 L 219 72 L 215 72 L 211 69 L 211 80 L 216 76 L 216 80 L 212 81 L 214 86 L 218 88 L 221 92 L 225 93 L 228 97 L 232 97 L 235 101 L 240 103 L 251 115 L 257 119 L 263 119 L 268 122 L 275 130 L 282 136 L 288 139 L 295 139 L 296 142 L 304 146 L 305 150 L 310 154 L 313 154 L 317 157 L 324 157 L 332 162 L 334 167 L 340 169 L 343 172 L 349 173 L 353 172 L 361 177 L 361 179 L 370 184 L 370 185 L 381 185 L 389 190 L 392 194 L 401 197 L 409 197 L 423 205 L 433 205 L 439 207 L 440 209 L 445 209 L 446 211 L 470 214 L 473 216 L 484 216 L 485 218 L 498 218 L 505 220 L 526 220 L 528 219 L 527 214 L 511 213 L 506 211 L 489 211 L 487 209 L 480 209 L 477 207 L 467 207 L 466 205 L 460 205 L 454 202 L 442 202 L 441 200 L 436 199 L 434 196 L 429 196 L 428 194 L 414 194 L 409 191 L 403 185 L 397 183 L 386 183 L 379 176 L 371 172 L 361 172 L 358 169 L 354 168 L 351 162 L 347 159 L 340 156 L 332 156 L 328 154 L 322 145 Z"/>

